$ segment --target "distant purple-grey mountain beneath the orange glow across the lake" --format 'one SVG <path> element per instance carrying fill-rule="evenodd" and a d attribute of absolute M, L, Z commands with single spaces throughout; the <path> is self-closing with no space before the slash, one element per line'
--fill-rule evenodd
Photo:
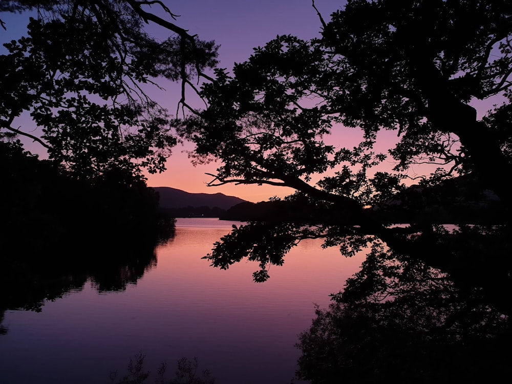
<path fill-rule="evenodd" d="M 184 208 L 184 207 L 218 207 L 221 209 L 229 209 L 233 205 L 243 203 L 242 200 L 234 196 L 226 196 L 221 193 L 217 194 L 191 194 L 181 189 L 170 187 L 153 187 L 160 195 L 160 206 L 162 208 Z"/>

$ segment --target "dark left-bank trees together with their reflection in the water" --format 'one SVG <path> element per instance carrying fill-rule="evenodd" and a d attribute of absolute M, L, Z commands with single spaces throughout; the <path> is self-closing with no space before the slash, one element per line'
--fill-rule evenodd
<path fill-rule="evenodd" d="M 16 142 L 0 142 L 0 175 L 1 312 L 40 311 L 88 279 L 100 291 L 122 290 L 174 235 L 175 219 L 142 181 L 80 181 Z"/>

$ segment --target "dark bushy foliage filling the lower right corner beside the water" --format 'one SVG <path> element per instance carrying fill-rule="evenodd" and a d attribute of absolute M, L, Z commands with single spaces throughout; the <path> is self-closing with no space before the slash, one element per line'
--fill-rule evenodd
<path fill-rule="evenodd" d="M 362 383 L 509 375 L 510 260 L 501 257 L 510 254 L 508 232 L 437 226 L 414 255 L 373 242 L 344 292 L 317 308 L 300 335 L 297 376 Z"/>

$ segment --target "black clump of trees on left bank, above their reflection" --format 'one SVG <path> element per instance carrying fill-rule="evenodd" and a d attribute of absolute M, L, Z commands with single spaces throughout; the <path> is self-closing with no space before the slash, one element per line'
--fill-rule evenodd
<path fill-rule="evenodd" d="M 174 219 L 159 209 L 158 195 L 131 175 L 113 170 L 78 180 L 15 142 L 0 142 L 0 157 L 4 255 L 50 249 L 57 255 L 84 239 L 86 247 L 108 246 L 112 239 L 154 241 L 159 231 L 168 236 L 174 230 Z"/>

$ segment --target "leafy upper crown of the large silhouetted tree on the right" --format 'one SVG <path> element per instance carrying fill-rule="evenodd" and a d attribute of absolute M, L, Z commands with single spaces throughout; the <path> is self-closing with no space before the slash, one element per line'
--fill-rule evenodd
<path fill-rule="evenodd" d="M 372 234 L 410 252 L 416 227 L 387 227 L 364 208 L 393 203 L 411 164 L 444 165 L 423 178 L 425 186 L 470 173 L 508 209 L 501 173 L 510 163 L 510 134 L 497 119 L 503 125 L 508 116 L 511 12 L 508 2 L 350 1 L 329 23 L 322 19 L 321 39 L 278 36 L 254 49 L 232 76 L 216 70 L 216 80 L 202 89 L 208 108 L 181 133 L 197 144 L 197 161 L 221 160 L 210 185 L 295 188 L 288 199 L 301 199 L 301 209 L 311 212 L 302 224 L 318 225 L 315 233 L 327 243 L 340 234 Z M 469 102 L 492 95 L 506 102 L 478 120 Z M 346 129 L 360 131 L 360 144 L 327 144 L 328 134 Z M 395 172 L 375 172 L 387 158 L 373 150 L 382 130 L 399 136 L 389 151 Z M 335 214 L 326 220 L 326 211 Z M 244 238 L 245 231 L 230 237 Z M 214 252 L 240 259 L 253 247 L 247 246 L 229 254 L 219 243 Z"/>

